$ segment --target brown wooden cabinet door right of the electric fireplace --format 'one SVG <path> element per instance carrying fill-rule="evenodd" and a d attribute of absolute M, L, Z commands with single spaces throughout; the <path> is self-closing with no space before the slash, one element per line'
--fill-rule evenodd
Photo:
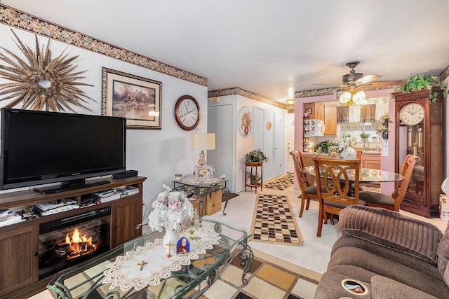
<path fill-rule="evenodd" d="M 142 223 L 142 207 L 139 200 L 124 200 L 112 204 L 111 213 L 111 248 L 142 235 L 142 227 L 135 228 Z"/>

